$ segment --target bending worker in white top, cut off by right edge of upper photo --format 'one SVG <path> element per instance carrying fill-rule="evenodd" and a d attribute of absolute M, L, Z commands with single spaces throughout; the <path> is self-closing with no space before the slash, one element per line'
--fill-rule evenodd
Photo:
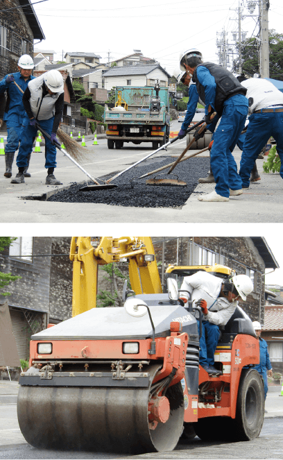
<path fill-rule="evenodd" d="M 281 160 L 280 176 L 283 179 L 283 94 L 268 80 L 248 78 L 241 83 L 247 89 L 248 129 L 243 143 L 239 174 L 242 187 L 250 185 L 250 171 L 261 149 L 273 136 Z"/>

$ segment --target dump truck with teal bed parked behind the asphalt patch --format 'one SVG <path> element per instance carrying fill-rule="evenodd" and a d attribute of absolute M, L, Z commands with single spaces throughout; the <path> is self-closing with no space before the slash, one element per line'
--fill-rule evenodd
<path fill-rule="evenodd" d="M 105 105 L 108 148 L 122 148 L 124 142 L 135 145 L 151 142 L 154 150 L 166 144 L 170 135 L 168 88 L 116 87 L 115 107 Z"/>

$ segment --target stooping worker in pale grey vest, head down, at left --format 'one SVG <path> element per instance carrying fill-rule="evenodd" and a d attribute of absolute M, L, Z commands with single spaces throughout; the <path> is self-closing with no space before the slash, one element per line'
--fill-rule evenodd
<path fill-rule="evenodd" d="M 47 169 L 46 185 L 59 185 L 61 182 L 54 176 L 56 167 L 56 147 L 58 142 L 56 133 L 64 109 L 64 81 L 58 70 L 50 70 L 35 78 L 24 92 L 24 108 L 26 115 L 23 122 L 21 145 L 17 155 L 19 172 L 13 184 L 24 182 L 24 169 L 27 164 L 27 155 L 33 139 L 37 133 L 37 123 L 51 136 L 45 137 L 45 168 Z"/>

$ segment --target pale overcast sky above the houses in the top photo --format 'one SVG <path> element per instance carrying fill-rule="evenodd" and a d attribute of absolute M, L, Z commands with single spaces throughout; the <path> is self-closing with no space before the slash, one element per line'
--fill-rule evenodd
<path fill-rule="evenodd" d="M 240 3 L 243 15 L 248 15 L 247 0 Z M 283 3 L 270 3 L 269 28 L 281 33 Z M 97 53 L 101 62 L 106 62 L 108 51 L 110 60 L 115 60 L 140 49 L 172 74 L 183 49 L 198 48 L 204 60 L 218 63 L 216 33 L 225 28 L 228 42 L 233 43 L 231 31 L 237 31 L 238 22 L 230 18 L 238 17 L 233 10 L 238 5 L 239 0 L 46 0 L 33 7 L 46 37 L 35 48 L 53 49 L 60 59 L 67 51 Z M 243 19 L 242 30 L 248 36 L 256 21 L 257 17 Z"/>

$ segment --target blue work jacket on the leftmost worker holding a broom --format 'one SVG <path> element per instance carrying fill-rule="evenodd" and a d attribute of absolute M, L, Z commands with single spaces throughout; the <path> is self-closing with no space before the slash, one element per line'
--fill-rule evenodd
<path fill-rule="evenodd" d="M 14 75 L 15 82 L 22 90 L 25 92 L 26 88 L 28 87 L 28 83 L 35 78 L 34 76 L 30 76 L 28 80 L 24 80 L 24 77 L 19 72 L 16 72 Z M 7 91 L 8 94 L 8 102 L 9 108 L 8 112 L 4 114 L 4 121 L 7 123 L 7 127 L 11 128 L 12 126 L 19 126 L 22 124 L 24 114 L 26 110 L 23 104 L 23 94 L 19 91 L 19 88 L 15 85 L 15 83 L 6 83 L 6 78 L 8 75 L 4 76 L 3 80 L 0 81 L 0 94 Z"/>

